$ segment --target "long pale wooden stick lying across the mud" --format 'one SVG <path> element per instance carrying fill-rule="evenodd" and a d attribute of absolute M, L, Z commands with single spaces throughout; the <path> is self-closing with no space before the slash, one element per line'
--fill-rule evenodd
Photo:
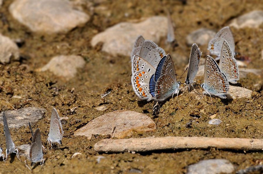
<path fill-rule="evenodd" d="M 95 144 L 97 152 L 147 152 L 169 149 L 233 149 L 263 150 L 263 139 L 208 138 L 208 137 L 159 137 L 103 139 Z"/>

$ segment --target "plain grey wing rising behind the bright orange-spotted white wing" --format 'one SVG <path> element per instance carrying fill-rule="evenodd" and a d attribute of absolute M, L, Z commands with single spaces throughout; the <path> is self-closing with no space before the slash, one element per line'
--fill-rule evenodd
<path fill-rule="evenodd" d="M 165 51 L 153 41 L 146 40 L 141 46 L 139 55 L 156 68 L 161 58 L 165 56 Z"/>

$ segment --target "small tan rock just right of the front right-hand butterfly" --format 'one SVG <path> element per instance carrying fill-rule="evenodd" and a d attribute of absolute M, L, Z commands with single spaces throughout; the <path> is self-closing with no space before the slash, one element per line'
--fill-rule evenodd
<path fill-rule="evenodd" d="M 250 98 L 252 90 L 247 88 L 229 85 L 229 94 L 233 99 L 237 98 Z"/>

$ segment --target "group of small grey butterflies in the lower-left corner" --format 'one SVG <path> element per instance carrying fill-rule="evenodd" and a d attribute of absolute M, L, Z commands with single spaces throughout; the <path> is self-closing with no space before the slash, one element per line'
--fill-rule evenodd
<path fill-rule="evenodd" d="M 15 144 L 10 135 L 5 112 L 3 112 L 3 122 L 4 122 L 4 134 L 6 138 L 6 159 L 7 159 L 7 156 L 11 153 L 16 153 L 17 157 L 19 157 L 18 149 L 15 148 Z M 32 144 L 30 146 L 30 152 L 29 152 L 30 161 L 32 162 L 31 165 L 37 162 L 40 162 L 40 164 L 43 164 L 44 155 L 43 155 L 43 150 L 42 150 L 43 146 L 41 142 L 40 130 L 37 128 L 37 130 L 33 133 L 30 123 L 29 123 L 29 127 L 30 127 L 31 134 L 33 137 Z M 64 132 L 63 132 L 62 125 L 60 122 L 60 117 L 58 115 L 57 110 L 53 108 L 51 112 L 49 135 L 47 138 L 47 141 L 51 143 L 51 147 L 53 147 L 52 142 L 58 143 L 60 145 L 62 144 L 61 140 L 63 138 L 63 133 Z M 3 150 L 0 148 L 0 157 L 2 157 L 3 160 L 5 161 L 6 160 L 4 159 L 5 155 L 2 154 L 2 151 Z"/>

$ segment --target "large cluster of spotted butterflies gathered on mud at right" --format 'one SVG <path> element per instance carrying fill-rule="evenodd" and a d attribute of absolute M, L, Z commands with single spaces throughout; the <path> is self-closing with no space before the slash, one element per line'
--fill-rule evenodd
<path fill-rule="evenodd" d="M 234 58 L 235 44 L 230 28 L 221 29 L 209 42 L 208 49 L 211 54 L 218 56 L 216 60 L 219 60 L 219 65 L 207 55 L 204 83 L 201 87 L 204 94 L 226 99 L 229 83 L 236 84 L 239 80 L 238 65 Z M 201 55 L 198 45 L 194 43 L 185 81 L 189 89 L 195 82 Z M 131 84 L 141 100 L 163 101 L 174 94 L 178 95 L 181 83 L 177 81 L 172 57 L 166 55 L 153 41 L 145 40 L 141 35 L 136 39 L 131 52 L 131 67 Z"/>

